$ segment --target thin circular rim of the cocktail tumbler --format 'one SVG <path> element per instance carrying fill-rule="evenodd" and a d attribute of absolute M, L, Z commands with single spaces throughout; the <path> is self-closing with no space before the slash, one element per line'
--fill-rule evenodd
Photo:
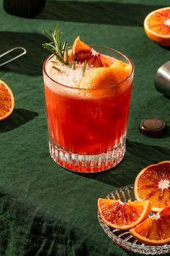
<path fill-rule="evenodd" d="M 92 46 L 92 47 L 104 48 L 104 49 L 107 49 L 107 50 L 109 50 L 109 51 L 116 52 L 117 54 L 120 54 L 120 55 L 123 56 L 125 59 L 127 59 L 128 62 L 130 63 L 130 65 L 131 65 L 131 67 L 132 67 L 132 70 L 131 70 L 130 74 L 128 75 L 128 77 L 125 78 L 125 80 L 122 80 L 121 82 L 118 82 L 117 84 L 113 84 L 113 85 L 110 85 L 110 86 L 105 87 L 105 88 L 111 88 L 112 86 L 114 86 L 114 87 L 117 88 L 117 87 L 118 87 L 119 85 L 121 85 L 123 82 L 130 80 L 130 77 L 132 77 L 133 72 L 134 72 L 134 65 L 133 65 L 133 61 L 131 61 L 131 59 L 129 59 L 125 54 L 122 54 L 120 51 L 117 51 L 117 50 L 115 50 L 115 49 L 112 49 L 112 48 L 109 48 L 109 47 L 106 47 L 106 46 L 98 46 L 98 45 L 95 45 L 95 44 L 91 44 L 90 46 Z M 70 49 L 70 48 L 71 48 L 71 46 L 68 47 L 68 49 Z M 43 72 L 45 73 L 45 75 L 46 75 L 51 81 L 57 83 L 58 85 L 61 85 L 61 86 L 64 87 L 64 88 L 71 88 L 71 89 L 74 89 L 74 90 L 77 90 L 77 89 L 78 89 L 78 90 L 102 90 L 102 89 L 104 89 L 104 88 L 75 88 L 75 87 L 73 87 L 73 86 L 64 85 L 64 84 L 62 84 L 61 82 L 58 82 L 58 81 L 53 80 L 53 78 L 50 77 L 50 75 L 48 74 L 48 72 L 47 72 L 46 69 L 45 69 L 48 60 L 51 59 L 53 56 L 54 56 L 54 54 L 51 54 L 50 56 L 48 56 L 48 57 L 45 59 L 45 61 L 43 62 L 43 65 L 42 65 L 42 70 L 43 70 Z"/>

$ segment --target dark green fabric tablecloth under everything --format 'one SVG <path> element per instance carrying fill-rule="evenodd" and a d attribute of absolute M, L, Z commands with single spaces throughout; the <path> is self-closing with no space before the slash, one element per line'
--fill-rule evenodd
<path fill-rule="evenodd" d="M 97 198 L 133 184 L 151 163 L 170 159 L 170 99 L 153 85 L 156 70 L 169 61 L 169 48 L 146 37 L 143 20 L 169 1 L 48 1 L 33 19 L 6 14 L 0 0 L 0 54 L 14 46 L 27 55 L 1 67 L 1 80 L 12 88 L 15 109 L 0 123 L 0 255 L 138 255 L 104 234 L 97 220 Z M 99 174 L 75 174 L 48 153 L 42 61 L 48 53 L 42 30 L 56 22 L 72 44 L 77 35 L 124 52 L 135 64 L 125 158 Z M 2 60 L 1 60 L 2 61 Z M 166 121 L 160 139 L 145 137 L 138 124 L 146 117 Z"/>

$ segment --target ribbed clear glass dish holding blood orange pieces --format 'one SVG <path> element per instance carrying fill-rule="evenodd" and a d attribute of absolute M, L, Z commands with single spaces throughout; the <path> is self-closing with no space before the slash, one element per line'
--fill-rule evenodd
<path fill-rule="evenodd" d="M 120 199 L 122 202 L 127 202 L 129 199 L 135 200 L 133 193 L 133 184 L 125 187 L 120 187 L 115 191 L 109 193 L 106 196 L 109 199 Z M 133 238 L 128 230 L 114 229 L 107 226 L 100 218 L 98 212 L 98 220 L 104 232 L 112 239 L 113 242 L 117 243 L 120 247 L 128 249 L 131 252 L 139 252 L 146 255 L 161 255 L 170 252 L 170 244 L 164 244 L 161 246 L 149 246 L 140 243 L 138 240 Z"/>

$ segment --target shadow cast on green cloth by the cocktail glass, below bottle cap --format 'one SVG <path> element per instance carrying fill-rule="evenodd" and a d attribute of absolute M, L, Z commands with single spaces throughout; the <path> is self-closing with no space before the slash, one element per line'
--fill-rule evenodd
<path fill-rule="evenodd" d="M 170 153 L 168 148 L 145 145 L 127 140 L 125 157 L 118 166 L 98 174 L 78 175 L 89 179 L 97 179 L 99 182 L 110 184 L 114 187 L 120 187 L 120 181 L 122 186 L 133 184 L 135 177 L 144 167 L 152 163 L 169 160 L 169 158 Z"/>

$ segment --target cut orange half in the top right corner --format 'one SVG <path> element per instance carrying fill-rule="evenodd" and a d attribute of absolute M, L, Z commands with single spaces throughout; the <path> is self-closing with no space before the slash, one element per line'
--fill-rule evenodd
<path fill-rule="evenodd" d="M 161 46 L 170 46 L 170 7 L 148 14 L 144 20 L 144 28 L 148 38 Z"/>

